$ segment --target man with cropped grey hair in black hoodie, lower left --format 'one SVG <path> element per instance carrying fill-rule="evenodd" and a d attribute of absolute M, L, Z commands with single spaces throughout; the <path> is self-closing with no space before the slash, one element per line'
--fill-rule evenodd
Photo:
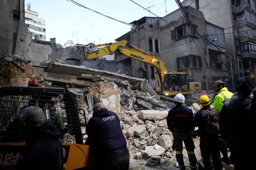
<path fill-rule="evenodd" d="M 60 132 L 55 125 L 44 120 L 41 108 L 29 106 L 21 110 L 19 126 L 26 147 L 19 170 L 63 170 Z"/>

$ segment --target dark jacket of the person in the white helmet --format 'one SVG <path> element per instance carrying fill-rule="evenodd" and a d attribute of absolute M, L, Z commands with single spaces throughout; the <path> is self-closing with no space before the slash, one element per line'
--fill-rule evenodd
<path fill-rule="evenodd" d="M 172 108 L 167 116 L 167 125 L 169 130 L 177 132 L 192 132 L 194 114 L 191 109 L 177 105 Z"/>

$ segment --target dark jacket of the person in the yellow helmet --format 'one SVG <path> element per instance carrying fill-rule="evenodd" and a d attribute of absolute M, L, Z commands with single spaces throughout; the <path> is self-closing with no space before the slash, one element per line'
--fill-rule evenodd
<path fill-rule="evenodd" d="M 200 136 L 209 136 L 209 133 L 207 132 L 207 119 L 204 114 L 204 110 L 212 111 L 212 108 L 210 106 L 203 107 L 202 110 L 195 113 L 194 118 L 194 126 L 198 127 Z M 220 112 L 216 110 L 217 116 L 219 117 Z"/>

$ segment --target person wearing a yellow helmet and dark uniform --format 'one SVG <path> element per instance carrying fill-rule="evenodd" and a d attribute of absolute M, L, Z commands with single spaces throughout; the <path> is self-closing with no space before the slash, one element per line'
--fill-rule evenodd
<path fill-rule="evenodd" d="M 202 95 L 199 98 L 199 104 L 203 107 L 200 111 L 195 114 L 194 125 L 199 129 L 200 135 L 200 150 L 201 156 L 204 161 L 204 170 L 212 170 L 212 163 L 215 170 L 222 170 L 221 164 L 221 153 L 220 153 L 220 142 L 218 139 L 217 131 L 213 134 L 210 131 L 210 124 L 218 124 L 218 120 L 209 120 L 208 114 L 215 114 L 215 117 L 218 119 L 219 111 L 216 109 L 210 108 L 211 99 L 207 95 Z M 212 122 L 211 122 L 212 121 Z"/>

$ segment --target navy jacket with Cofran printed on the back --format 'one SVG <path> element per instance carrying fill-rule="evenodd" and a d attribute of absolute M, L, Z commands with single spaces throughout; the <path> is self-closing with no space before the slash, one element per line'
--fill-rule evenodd
<path fill-rule="evenodd" d="M 86 134 L 92 138 L 97 158 L 113 161 L 129 154 L 120 120 L 116 113 L 104 108 L 93 113 L 86 126 Z"/>

